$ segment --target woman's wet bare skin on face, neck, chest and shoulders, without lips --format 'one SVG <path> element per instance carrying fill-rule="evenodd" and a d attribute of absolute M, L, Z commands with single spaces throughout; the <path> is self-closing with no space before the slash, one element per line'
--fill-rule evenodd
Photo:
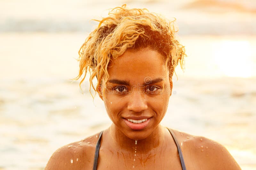
<path fill-rule="evenodd" d="M 157 51 L 145 48 L 126 51 L 113 60 L 107 89 L 100 89 L 99 94 L 113 124 L 102 134 L 97 169 L 182 169 L 177 146 L 170 132 L 160 125 L 172 89 L 163 59 Z M 149 77 L 152 82 L 158 81 L 142 86 Z M 150 117 L 141 130 L 133 130 L 125 123 L 124 118 L 141 116 Z M 187 169 L 241 169 L 219 143 L 173 131 Z M 92 169 L 98 137 L 99 133 L 61 147 L 45 169 Z"/>

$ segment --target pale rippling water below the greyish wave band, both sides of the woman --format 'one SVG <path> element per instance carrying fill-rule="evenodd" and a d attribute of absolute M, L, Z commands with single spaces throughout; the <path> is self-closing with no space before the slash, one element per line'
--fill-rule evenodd
<path fill-rule="evenodd" d="M 60 146 L 108 127 L 101 100 L 96 97 L 93 103 L 89 93 L 80 93 L 77 81 L 68 80 L 76 76 L 72 57 L 84 34 L 1 37 L 7 47 L 0 46 L 0 168 L 43 169 Z M 10 53 L 13 41 L 23 44 L 16 47 L 17 55 Z M 177 71 L 179 81 L 173 78 L 162 124 L 214 139 L 242 169 L 255 169 L 255 37 L 190 36 L 181 41 L 188 54 L 186 71 Z"/>

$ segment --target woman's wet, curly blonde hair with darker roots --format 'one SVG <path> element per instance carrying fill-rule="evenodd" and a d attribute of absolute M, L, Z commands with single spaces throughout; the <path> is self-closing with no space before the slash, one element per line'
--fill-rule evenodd
<path fill-rule="evenodd" d="M 149 48 L 161 53 L 166 57 L 170 79 L 178 63 L 184 69 L 185 48 L 176 39 L 175 19 L 170 21 L 147 9 L 128 9 L 123 5 L 112 9 L 108 17 L 95 21 L 99 22 L 98 27 L 79 50 L 80 69 L 73 80 L 78 80 L 84 73 L 80 87 L 87 72 L 90 73 L 90 89 L 99 92 L 103 78 L 106 87 L 109 64 L 127 50 Z M 92 83 L 95 77 L 98 80 L 96 86 Z"/>

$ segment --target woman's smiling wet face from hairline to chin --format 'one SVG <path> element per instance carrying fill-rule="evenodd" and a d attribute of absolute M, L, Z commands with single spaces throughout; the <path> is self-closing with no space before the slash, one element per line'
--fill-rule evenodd
<path fill-rule="evenodd" d="M 128 138 L 147 138 L 163 119 L 172 93 L 164 56 L 144 48 L 126 51 L 110 65 L 100 95 L 108 116 Z"/>

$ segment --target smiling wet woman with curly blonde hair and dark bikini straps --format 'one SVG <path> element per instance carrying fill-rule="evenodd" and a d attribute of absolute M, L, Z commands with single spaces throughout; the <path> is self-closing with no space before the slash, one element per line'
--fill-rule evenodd
<path fill-rule="evenodd" d="M 219 143 L 160 125 L 175 67 L 184 66 L 173 21 L 123 5 L 99 22 L 79 51 L 76 80 L 90 72 L 113 124 L 61 147 L 45 169 L 240 169 Z"/>

